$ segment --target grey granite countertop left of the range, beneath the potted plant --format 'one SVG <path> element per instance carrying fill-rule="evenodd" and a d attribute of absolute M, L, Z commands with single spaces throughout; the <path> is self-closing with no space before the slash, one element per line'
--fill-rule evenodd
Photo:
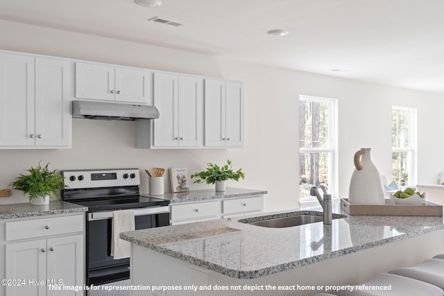
<path fill-rule="evenodd" d="M 28 202 L 17 204 L 0 204 L 0 219 L 48 216 L 87 211 L 87 207 L 62 200 L 52 200 L 49 204 L 32 205 Z"/>

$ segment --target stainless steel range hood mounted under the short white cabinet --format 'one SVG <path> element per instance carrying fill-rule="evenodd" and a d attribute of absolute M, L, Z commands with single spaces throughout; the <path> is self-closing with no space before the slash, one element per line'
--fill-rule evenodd
<path fill-rule="evenodd" d="M 154 106 L 122 103 L 72 101 L 72 116 L 78 119 L 142 120 L 158 119 L 159 110 Z"/>

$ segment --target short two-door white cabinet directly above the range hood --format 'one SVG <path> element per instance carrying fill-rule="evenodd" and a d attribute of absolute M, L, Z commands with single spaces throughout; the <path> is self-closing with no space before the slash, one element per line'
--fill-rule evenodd
<path fill-rule="evenodd" d="M 76 62 L 76 98 L 150 104 L 147 69 Z"/>

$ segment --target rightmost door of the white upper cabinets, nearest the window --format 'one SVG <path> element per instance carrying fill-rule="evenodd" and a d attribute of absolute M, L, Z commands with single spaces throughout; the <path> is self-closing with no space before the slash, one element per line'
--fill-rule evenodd
<path fill-rule="evenodd" d="M 244 145 L 244 85 L 225 82 L 225 146 Z"/>

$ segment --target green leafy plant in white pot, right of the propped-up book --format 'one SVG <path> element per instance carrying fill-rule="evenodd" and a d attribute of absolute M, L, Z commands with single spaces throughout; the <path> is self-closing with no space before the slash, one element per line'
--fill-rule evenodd
<path fill-rule="evenodd" d="M 227 160 L 225 166 L 218 166 L 217 164 L 207 163 L 207 169 L 200 173 L 194 173 L 192 178 L 198 178 L 194 183 L 216 184 L 216 191 L 225 191 L 225 181 L 244 179 L 245 175 L 242 173 L 242 168 L 233 171 L 230 159 Z"/>

